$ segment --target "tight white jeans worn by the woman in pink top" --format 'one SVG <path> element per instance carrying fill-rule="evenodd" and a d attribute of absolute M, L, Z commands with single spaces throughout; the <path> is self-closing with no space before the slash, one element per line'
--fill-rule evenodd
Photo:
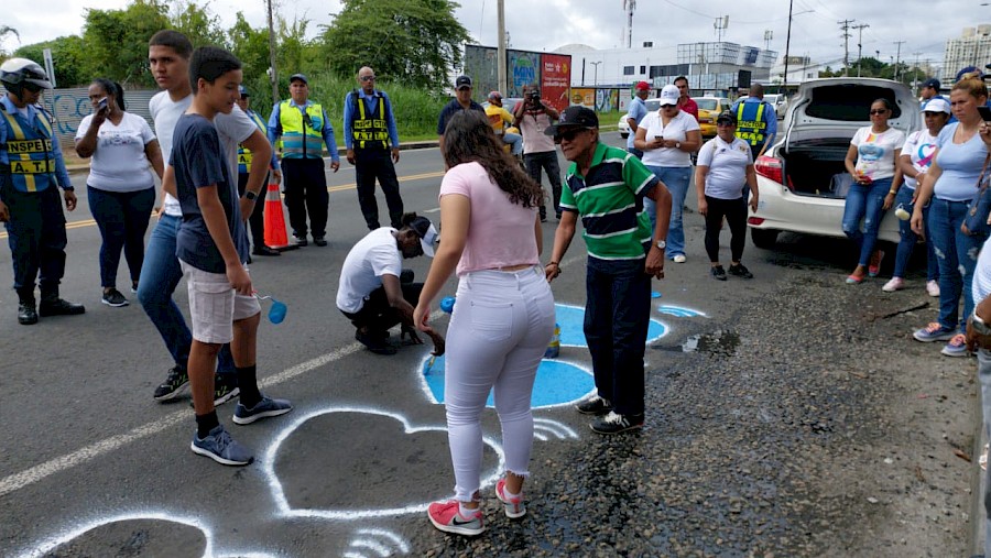
<path fill-rule="evenodd" d="M 505 469 L 530 474 L 530 401 L 553 330 L 554 296 L 540 267 L 471 272 L 461 277 L 447 329 L 444 380 L 457 500 L 470 502 L 479 489 L 481 412 L 493 386 Z"/>

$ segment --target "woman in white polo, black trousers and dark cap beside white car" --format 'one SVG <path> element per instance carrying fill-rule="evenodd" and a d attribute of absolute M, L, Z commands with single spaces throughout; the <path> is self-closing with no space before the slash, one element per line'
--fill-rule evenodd
<path fill-rule="evenodd" d="M 723 217 L 732 234 L 729 274 L 753 278 L 750 270 L 740 263 L 747 244 L 747 200 L 743 198 L 743 186 L 750 186 L 750 208 L 753 211 L 756 211 L 760 195 L 750 145 L 737 138 L 736 132 L 736 114 L 730 111 L 719 114 L 716 119 L 716 138 L 699 150 L 698 166 L 695 168 L 698 212 L 706 218 L 706 252 L 709 254 L 710 273 L 719 281 L 726 281 L 726 270 L 719 263 L 719 232 Z"/>

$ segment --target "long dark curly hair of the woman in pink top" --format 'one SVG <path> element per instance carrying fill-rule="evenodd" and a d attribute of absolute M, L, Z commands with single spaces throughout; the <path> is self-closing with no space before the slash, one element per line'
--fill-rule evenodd
<path fill-rule="evenodd" d="M 492 131 L 489 120 L 475 110 L 461 110 L 450 117 L 444 132 L 444 161 L 448 167 L 478 163 L 510 201 L 523 207 L 537 207 L 544 197 L 541 185 L 520 168 Z"/>

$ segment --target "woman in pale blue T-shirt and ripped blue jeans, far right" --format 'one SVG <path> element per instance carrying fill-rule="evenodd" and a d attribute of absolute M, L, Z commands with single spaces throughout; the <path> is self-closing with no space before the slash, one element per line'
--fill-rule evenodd
<path fill-rule="evenodd" d="M 982 122 L 978 112 L 978 107 L 987 102 L 988 90 L 982 80 L 962 79 L 954 86 L 950 107 L 957 122 L 939 132 L 935 161 L 918 187 L 912 212 L 912 230 L 922 234 L 922 207 L 929 203 L 929 234 L 939 262 L 939 317 L 913 337 L 923 342 L 948 341 L 940 351 L 947 357 L 967 355 L 963 328 L 966 317 L 973 311 L 973 270 L 985 240 L 982 234 L 965 233 L 961 225 L 989 157 L 991 134 L 980 133 L 989 124 Z M 961 295 L 963 320 L 959 315 Z"/>

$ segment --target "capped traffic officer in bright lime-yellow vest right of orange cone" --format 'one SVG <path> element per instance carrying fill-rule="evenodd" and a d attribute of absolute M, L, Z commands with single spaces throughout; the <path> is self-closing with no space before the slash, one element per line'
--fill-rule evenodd
<path fill-rule="evenodd" d="M 308 244 L 306 233 L 313 233 L 313 243 L 327 245 L 327 211 L 330 195 L 327 193 L 327 175 L 324 169 L 324 144 L 330 152 L 330 168 L 340 168 L 340 155 L 334 139 L 334 127 L 327 112 L 309 100 L 309 81 L 303 74 L 290 77 L 292 99 L 275 103 L 269 118 L 269 141 L 282 138 L 282 177 L 285 205 L 290 211 L 290 227 L 301 247 Z M 309 229 L 306 214 L 309 214 Z"/>

